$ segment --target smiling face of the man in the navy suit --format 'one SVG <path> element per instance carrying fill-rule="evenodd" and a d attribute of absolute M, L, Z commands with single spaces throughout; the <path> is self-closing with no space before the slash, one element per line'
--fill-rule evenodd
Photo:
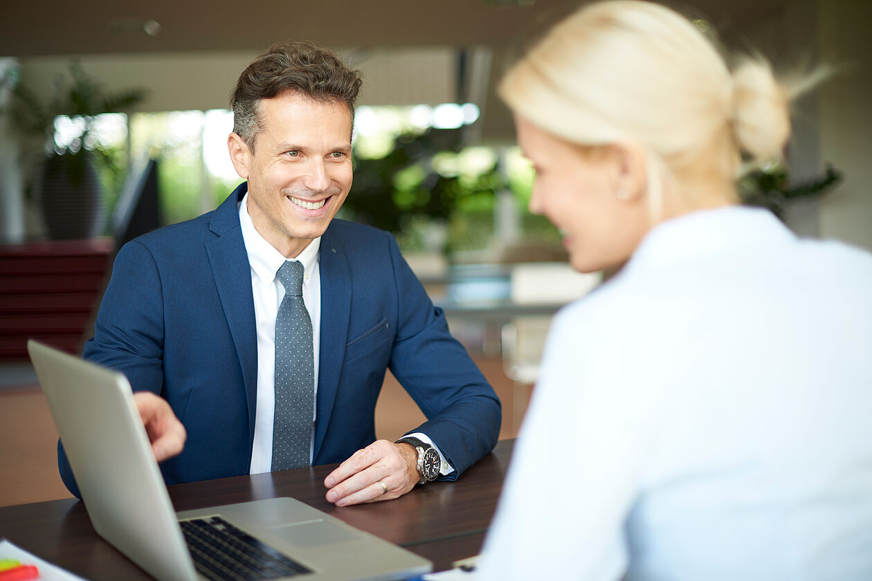
<path fill-rule="evenodd" d="M 351 111 L 288 91 L 259 105 L 252 152 L 228 138 L 236 172 L 249 181 L 257 232 L 289 258 L 324 233 L 351 189 Z"/>

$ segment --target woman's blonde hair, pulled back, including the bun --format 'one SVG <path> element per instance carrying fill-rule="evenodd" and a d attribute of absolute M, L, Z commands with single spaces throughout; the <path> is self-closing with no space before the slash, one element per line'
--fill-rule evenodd
<path fill-rule="evenodd" d="M 515 113 L 579 145 L 632 140 L 676 175 L 732 179 L 739 153 L 778 159 L 794 87 L 762 57 L 732 67 L 687 18 L 656 3 L 610 0 L 557 24 L 508 71 Z"/>

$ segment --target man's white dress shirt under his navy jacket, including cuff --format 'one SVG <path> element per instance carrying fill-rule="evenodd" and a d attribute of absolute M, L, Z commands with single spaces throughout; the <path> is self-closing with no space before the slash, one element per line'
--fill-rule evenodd
<path fill-rule="evenodd" d="M 315 396 L 317 402 L 318 353 L 321 344 L 321 239 L 312 240 L 296 259 L 285 258 L 255 229 L 249 216 L 249 194 L 246 193 L 239 204 L 239 222 L 242 226 L 242 240 L 249 255 L 251 266 L 251 290 L 255 299 L 255 325 L 257 328 L 257 408 L 255 410 L 255 442 L 251 450 L 250 473 L 269 472 L 272 469 L 273 417 L 276 407 L 276 316 L 284 298 L 284 287 L 276 277 L 279 267 L 285 260 L 296 260 L 303 264 L 303 304 L 309 311 L 312 321 L 312 356 L 315 360 Z M 317 405 L 315 406 L 317 410 Z M 312 425 L 317 411 L 313 410 Z M 312 430 L 309 462 L 314 455 L 315 430 Z M 442 451 L 426 434 L 416 432 L 415 436 L 433 446 L 441 461 L 439 474 L 445 476 L 454 467 L 445 460 Z"/>

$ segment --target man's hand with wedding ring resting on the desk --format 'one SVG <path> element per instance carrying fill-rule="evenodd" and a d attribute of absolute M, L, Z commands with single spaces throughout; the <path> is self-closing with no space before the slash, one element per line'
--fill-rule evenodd
<path fill-rule="evenodd" d="M 378 440 L 358 449 L 324 479 L 337 506 L 402 497 L 419 482 L 418 452 L 411 444 Z"/>

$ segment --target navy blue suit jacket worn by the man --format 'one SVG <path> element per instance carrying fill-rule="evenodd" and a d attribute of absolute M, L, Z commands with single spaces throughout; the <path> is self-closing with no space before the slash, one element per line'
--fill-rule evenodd
<path fill-rule="evenodd" d="M 167 483 L 249 473 L 257 341 L 237 187 L 215 211 L 122 247 L 85 359 L 124 372 L 134 390 L 164 397 L 187 429 Z M 493 449 L 500 402 L 448 333 L 389 233 L 332 220 L 321 239 L 321 345 L 314 462 L 342 462 L 375 441 L 385 369 L 428 420 L 456 478 Z M 61 476 L 78 488 L 63 449 Z"/>

